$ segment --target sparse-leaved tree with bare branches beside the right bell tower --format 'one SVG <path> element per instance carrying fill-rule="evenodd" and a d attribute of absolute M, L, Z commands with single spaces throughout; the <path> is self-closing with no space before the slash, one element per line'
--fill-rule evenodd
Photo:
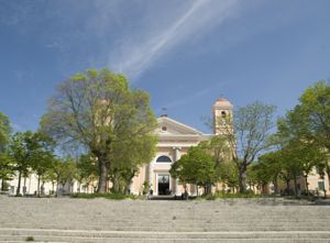
<path fill-rule="evenodd" d="M 274 111 L 275 107 L 256 101 L 237 109 L 233 118 L 228 117 L 223 123 L 227 130 L 224 135 L 227 135 L 232 159 L 238 168 L 241 194 L 246 191 L 248 166 L 261 152 L 272 146 L 270 135 L 274 128 Z"/>

